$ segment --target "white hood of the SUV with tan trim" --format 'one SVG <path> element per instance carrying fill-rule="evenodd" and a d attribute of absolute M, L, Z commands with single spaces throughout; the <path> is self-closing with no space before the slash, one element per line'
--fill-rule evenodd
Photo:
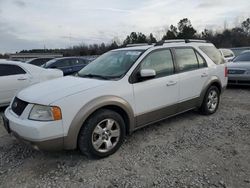
<path fill-rule="evenodd" d="M 30 86 L 17 94 L 29 103 L 49 105 L 61 98 L 103 86 L 110 81 L 66 76 Z"/>

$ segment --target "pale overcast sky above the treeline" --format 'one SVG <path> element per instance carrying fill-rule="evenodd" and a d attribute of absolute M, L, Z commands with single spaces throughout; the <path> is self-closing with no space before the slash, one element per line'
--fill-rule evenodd
<path fill-rule="evenodd" d="M 189 18 L 198 31 L 250 17 L 249 0 L 0 0 L 0 53 L 124 40 L 132 31 L 162 37 Z"/>

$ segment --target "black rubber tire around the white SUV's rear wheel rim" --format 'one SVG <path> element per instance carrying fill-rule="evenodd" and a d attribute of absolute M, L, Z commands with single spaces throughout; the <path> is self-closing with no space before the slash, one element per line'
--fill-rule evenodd
<path fill-rule="evenodd" d="M 216 104 L 216 107 L 215 108 L 211 108 L 209 107 L 209 96 L 211 95 L 211 93 L 215 92 L 216 95 L 217 95 L 217 104 Z M 220 104 L 220 91 L 218 89 L 218 87 L 216 86 L 210 86 L 204 96 L 204 99 L 203 99 L 203 102 L 202 102 L 202 105 L 200 107 L 200 112 L 204 115 L 211 115 L 213 113 L 215 113 L 219 107 L 219 104 Z"/>

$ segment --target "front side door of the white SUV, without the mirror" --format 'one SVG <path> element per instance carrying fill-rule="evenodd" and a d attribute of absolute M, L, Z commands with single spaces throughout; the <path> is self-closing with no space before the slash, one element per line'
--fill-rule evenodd
<path fill-rule="evenodd" d="M 137 79 L 133 83 L 138 127 L 175 114 L 179 95 L 178 76 L 174 74 L 170 49 L 152 51 L 142 60 L 134 75 L 142 69 L 153 69 L 156 76 L 149 80 Z"/>

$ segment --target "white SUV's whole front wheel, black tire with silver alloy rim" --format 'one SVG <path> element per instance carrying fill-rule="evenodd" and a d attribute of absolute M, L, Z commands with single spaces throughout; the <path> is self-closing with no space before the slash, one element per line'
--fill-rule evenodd
<path fill-rule="evenodd" d="M 89 158 L 103 158 L 115 153 L 125 137 L 125 123 L 120 114 L 101 109 L 88 118 L 78 136 L 78 148 Z"/>

